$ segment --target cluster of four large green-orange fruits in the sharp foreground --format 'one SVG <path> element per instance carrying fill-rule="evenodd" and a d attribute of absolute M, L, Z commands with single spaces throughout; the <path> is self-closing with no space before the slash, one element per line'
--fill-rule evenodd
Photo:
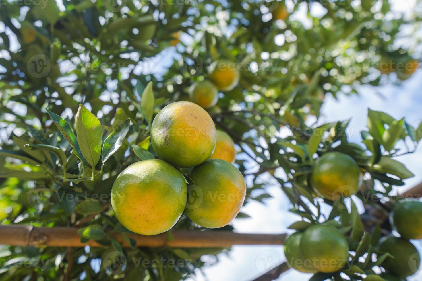
<path fill-rule="evenodd" d="M 202 107 L 185 101 L 165 106 L 152 122 L 151 144 L 162 160 L 130 165 L 112 187 L 111 205 L 122 225 L 155 235 L 173 227 L 185 209 L 193 222 L 209 228 L 223 227 L 236 217 L 246 184 L 230 163 L 233 140 L 216 130 Z M 191 169 L 185 178 L 176 167 Z"/>

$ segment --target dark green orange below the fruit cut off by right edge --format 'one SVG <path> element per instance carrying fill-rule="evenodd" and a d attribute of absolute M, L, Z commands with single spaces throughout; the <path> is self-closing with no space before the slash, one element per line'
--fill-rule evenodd
<path fill-rule="evenodd" d="M 417 272 L 420 256 L 416 247 L 408 240 L 394 236 L 381 238 L 379 250 L 390 253 L 394 258 L 387 257 L 381 264 L 395 276 L 405 278 Z"/>

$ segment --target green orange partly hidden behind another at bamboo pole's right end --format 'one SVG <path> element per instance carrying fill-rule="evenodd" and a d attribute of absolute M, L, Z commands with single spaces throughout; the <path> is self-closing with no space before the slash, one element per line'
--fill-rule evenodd
<path fill-rule="evenodd" d="M 295 232 L 284 241 L 284 255 L 286 256 L 287 265 L 303 273 L 316 273 L 317 270 L 311 268 L 311 263 L 306 263 L 303 260 L 303 255 L 300 252 L 300 239 L 302 239 L 303 232 Z"/>

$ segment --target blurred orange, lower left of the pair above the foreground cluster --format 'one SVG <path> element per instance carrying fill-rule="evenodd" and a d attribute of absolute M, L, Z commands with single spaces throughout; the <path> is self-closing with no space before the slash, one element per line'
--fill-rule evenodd
<path fill-rule="evenodd" d="M 208 80 L 195 84 L 189 93 L 190 100 L 203 108 L 213 107 L 218 101 L 218 89 Z"/>

